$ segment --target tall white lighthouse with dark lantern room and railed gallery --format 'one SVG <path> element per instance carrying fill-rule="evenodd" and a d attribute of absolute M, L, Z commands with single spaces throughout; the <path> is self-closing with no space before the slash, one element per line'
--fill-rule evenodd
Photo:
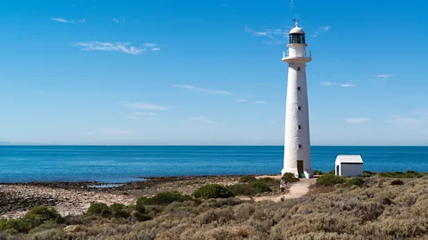
<path fill-rule="evenodd" d="M 284 168 L 298 178 L 312 178 L 310 164 L 309 104 L 306 83 L 306 63 L 312 60 L 306 51 L 305 32 L 296 22 L 289 33 L 288 51 L 283 61 L 288 63 L 287 100 L 285 105 Z"/>

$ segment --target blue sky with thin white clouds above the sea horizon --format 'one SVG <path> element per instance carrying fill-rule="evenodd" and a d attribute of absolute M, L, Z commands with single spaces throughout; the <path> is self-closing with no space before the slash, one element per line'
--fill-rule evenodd
<path fill-rule="evenodd" d="M 281 145 L 297 17 L 312 145 L 428 145 L 428 4 L 411 2 L 8 1 L 0 142 Z"/>

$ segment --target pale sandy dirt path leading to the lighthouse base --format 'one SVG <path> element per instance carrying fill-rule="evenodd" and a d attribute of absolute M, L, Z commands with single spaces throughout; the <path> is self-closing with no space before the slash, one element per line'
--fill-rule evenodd
<path fill-rule="evenodd" d="M 292 187 L 290 188 L 290 191 L 288 193 L 285 193 L 279 196 L 256 196 L 256 197 L 253 197 L 252 199 L 255 202 L 271 200 L 277 203 L 281 201 L 281 198 L 284 198 L 284 199 L 298 198 L 300 196 L 304 196 L 305 194 L 307 194 L 309 192 L 309 186 L 314 184 L 315 182 L 316 182 L 316 179 L 300 179 L 300 181 L 292 184 Z"/>

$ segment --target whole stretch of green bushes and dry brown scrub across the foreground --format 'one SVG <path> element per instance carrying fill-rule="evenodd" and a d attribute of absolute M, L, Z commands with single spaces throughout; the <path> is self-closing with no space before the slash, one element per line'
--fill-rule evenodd
<path fill-rule="evenodd" d="M 36 207 L 20 219 L 0 219 L 0 239 L 428 238 L 428 176 L 391 180 L 379 174 L 352 179 L 325 174 L 308 196 L 279 203 L 221 198 L 230 196 L 229 189 L 206 185 L 193 195 L 210 199 L 175 197 L 183 201 L 170 204 L 146 204 L 149 198 L 169 197 L 140 198 L 136 205 L 91 204 L 86 214 L 63 218 L 52 208 Z M 107 211 L 112 215 L 103 215 Z M 113 216 L 121 211 L 129 216 Z"/>

